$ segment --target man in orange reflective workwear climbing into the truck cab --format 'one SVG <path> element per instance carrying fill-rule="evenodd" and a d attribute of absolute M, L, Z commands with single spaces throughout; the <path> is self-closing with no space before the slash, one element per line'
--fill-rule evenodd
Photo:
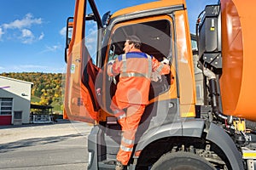
<path fill-rule="evenodd" d="M 137 127 L 145 106 L 148 105 L 152 71 L 161 75 L 170 72 L 169 60 L 164 59 L 161 63 L 153 56 L 143 53 L 138 37 L 129 36 L 125 40 L 125 54 L 108 61 L 108 76 L 119 75 L 117 89 L 110 105 L 123 132 L 116 170 L 122 170 L 130 160 Z"/>

